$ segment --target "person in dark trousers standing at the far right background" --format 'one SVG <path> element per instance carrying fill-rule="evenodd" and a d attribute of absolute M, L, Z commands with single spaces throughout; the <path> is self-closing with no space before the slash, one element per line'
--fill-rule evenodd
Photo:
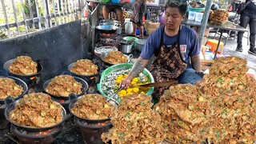
<path fill-rule="evenodd" d="M 255 0 L 246 0 L 246 2 L 250 2 L 246 9 L 242 11 L 240 15 L 240 24 L 246 29 L 249 24 L 250 29 L 250 49 L 248 51 L 249 54 L 256 55 L 256 48 L 255 48 L 255 39 L 256 39 L 256 2 Z M 244 32 L 238 31 L 238 40 L 237 40 L 237 49 L 236 51 L 242 52 L 242 37 Z"/>

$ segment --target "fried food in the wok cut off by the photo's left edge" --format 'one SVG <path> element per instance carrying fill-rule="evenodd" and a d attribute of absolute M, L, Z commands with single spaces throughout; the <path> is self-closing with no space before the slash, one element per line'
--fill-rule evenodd
<path fill-rule="evenodd" d="M 17 98 L 22 95 L 23 88 L 19 86 L 12 78 L 0 78 L 0 99 L 8 96 Z"/>

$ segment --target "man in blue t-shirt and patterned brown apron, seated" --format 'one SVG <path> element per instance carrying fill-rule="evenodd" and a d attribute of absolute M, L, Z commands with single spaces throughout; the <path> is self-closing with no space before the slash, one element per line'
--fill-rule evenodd
<path fill-rule="evenodd" d="M 128 76 L 120 86 L 127 87 L 130 82 L 145 68 L 154 54 L 156 58 L 150 66 L 155 82 L 177 80 L 179 83 L 200 85 L 202 82 L 200 48 L 194 30 L 182 26 L 186 18 L 186 2 L 167 0 L 165 7 L 165 25 L 150 34 L 142 53 Z M 160 98 L 168 86 L 154 89 L 153 96 Z"/>

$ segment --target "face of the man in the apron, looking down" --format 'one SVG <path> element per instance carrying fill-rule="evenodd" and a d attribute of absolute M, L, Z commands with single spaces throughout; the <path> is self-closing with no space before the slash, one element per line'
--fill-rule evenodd
<path fill-rule="evenodd" d="M 185 15 L 182 15 L 178 7 L 168 7 L 165 14 L 165 24 L 168 30 L 175 30 L 184 20 Z"/>

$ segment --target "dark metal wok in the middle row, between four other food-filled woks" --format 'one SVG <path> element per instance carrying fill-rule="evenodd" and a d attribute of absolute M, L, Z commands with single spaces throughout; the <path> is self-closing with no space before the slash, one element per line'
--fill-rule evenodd
<path fill-rule="evenodd" d="M 74 77 L 74 76 L 73 76 Z M 46 92 L 46 87 L 49 85 L 51 79 L 48 79 L 46 82 L 43 83 L 43 90 Z M 88 84 L 85 80 L 83 80 L 82 78 L 78 78 L 78 77 L 74 77 L 74 80 L 77 82 L 80 82 L 82 84 L 82 93 L 81 94 L 75 94 L 76 96 L 81 96 L 82 94 L 86 93 L 86 90 L 88 90 Z M 46 92 L 47 93 L 47 92 Z M 49 93 L 47 93 L 49 94 Z M 52 98 L 56 98 L 56 99 L 62 99 L 62 100 L 69 100 L 69 97 L 63 97 L 63 96 L 59 96 L 59 95 L 53 95 L 53 94 L 49 94 Z"/>

